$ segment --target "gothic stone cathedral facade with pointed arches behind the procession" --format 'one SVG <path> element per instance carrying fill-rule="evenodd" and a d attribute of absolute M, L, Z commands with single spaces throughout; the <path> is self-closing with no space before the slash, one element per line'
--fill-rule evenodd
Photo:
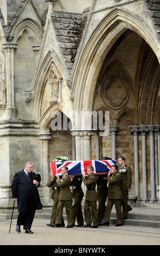
<path fill-rule="evenodd" d="M 1 218 L 27 161 L 41 174 L 42 204 L 52 205 L 46 182 L 59 155 L 124 156 L 130 198 L 158 205 L 159 0 L 0 0 L 0 8 Z M 80 118 L 100 112 L 102 124 L 109 113 L 107 134 Z"/>

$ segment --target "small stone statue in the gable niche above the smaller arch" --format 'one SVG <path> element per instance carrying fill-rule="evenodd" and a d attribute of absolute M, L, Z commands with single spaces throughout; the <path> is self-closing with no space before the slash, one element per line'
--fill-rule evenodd
<path fill-rule="evenodd" d="M 51 76 L 51 80 L 49 80 L 51 86 L 51 100 L 50 103 L 57 103 L 58 102 L 58 80 L 57 76 L 53 74 Z"/>

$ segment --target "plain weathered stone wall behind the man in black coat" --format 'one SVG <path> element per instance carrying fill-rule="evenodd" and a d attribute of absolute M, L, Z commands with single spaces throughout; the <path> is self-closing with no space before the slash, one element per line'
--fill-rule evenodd
<path fill-rule="evenodd" d="M 14 174 L 22 170 L 25 163 L 34 163 L 33 172 L 41 173 L 41 153 L 39 137 L 3 136 L 1 137 L 1 197 L 0 208 L 11 203 L 10 184 Z"/>

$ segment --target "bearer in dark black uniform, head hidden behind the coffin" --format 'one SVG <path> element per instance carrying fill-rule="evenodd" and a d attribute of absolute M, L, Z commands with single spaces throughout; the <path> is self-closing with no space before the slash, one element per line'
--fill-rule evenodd
<path fill-rule="evenodd" d="M 97 175 L 97 194 L 99 200 L 99 223 L 101 223 L 104 215 L 104 211 L 106 209 L 106 199 L 108 196 L 108 187 L 107 187 L 107 174 Z"/>

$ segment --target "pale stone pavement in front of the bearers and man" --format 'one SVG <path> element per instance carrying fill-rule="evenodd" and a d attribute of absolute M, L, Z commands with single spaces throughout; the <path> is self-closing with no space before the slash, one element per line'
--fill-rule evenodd
<path fill-rule="evenodd" d="M 114 209 L 113 209 L 114 211 Z M 134 215 L 159 216 L 160 209 L 134 208 Z M 38 212 L 38 211 L 37 211 Z M 51 228 L 47 227 L 50 219 L 34 218 L 32 231 L 34 234 L 25 234 L 21 227 L 21 233 L 15 231 L 16 219 L 13 220 L 9 234 L 10 220 L 0 221 L 0 245 L 52 245 L 54 250 L 73 248 L 73 252 L 82 250 L 84 246 L 108 248 L 109 245 L 159 245 L 160 228 L 141 227 L 140 225 L 122 225 L 115 227 L 99 228 Z M 66 221 L 65 221 L 66 224 Z M 76 248 L 73 247 L 76 245 Z M 58 253 L 58 251 L 54 251 Z M 63 253 L 64 251 L 59 251 Z M 67 252 L 73 254 L 73 252 Z M 82 253 L 80 251 L 79 253 Z M 86 251 L 84 252 L 86 253 Z M 103 251 L 102 251 L 103 253 Z"/>

